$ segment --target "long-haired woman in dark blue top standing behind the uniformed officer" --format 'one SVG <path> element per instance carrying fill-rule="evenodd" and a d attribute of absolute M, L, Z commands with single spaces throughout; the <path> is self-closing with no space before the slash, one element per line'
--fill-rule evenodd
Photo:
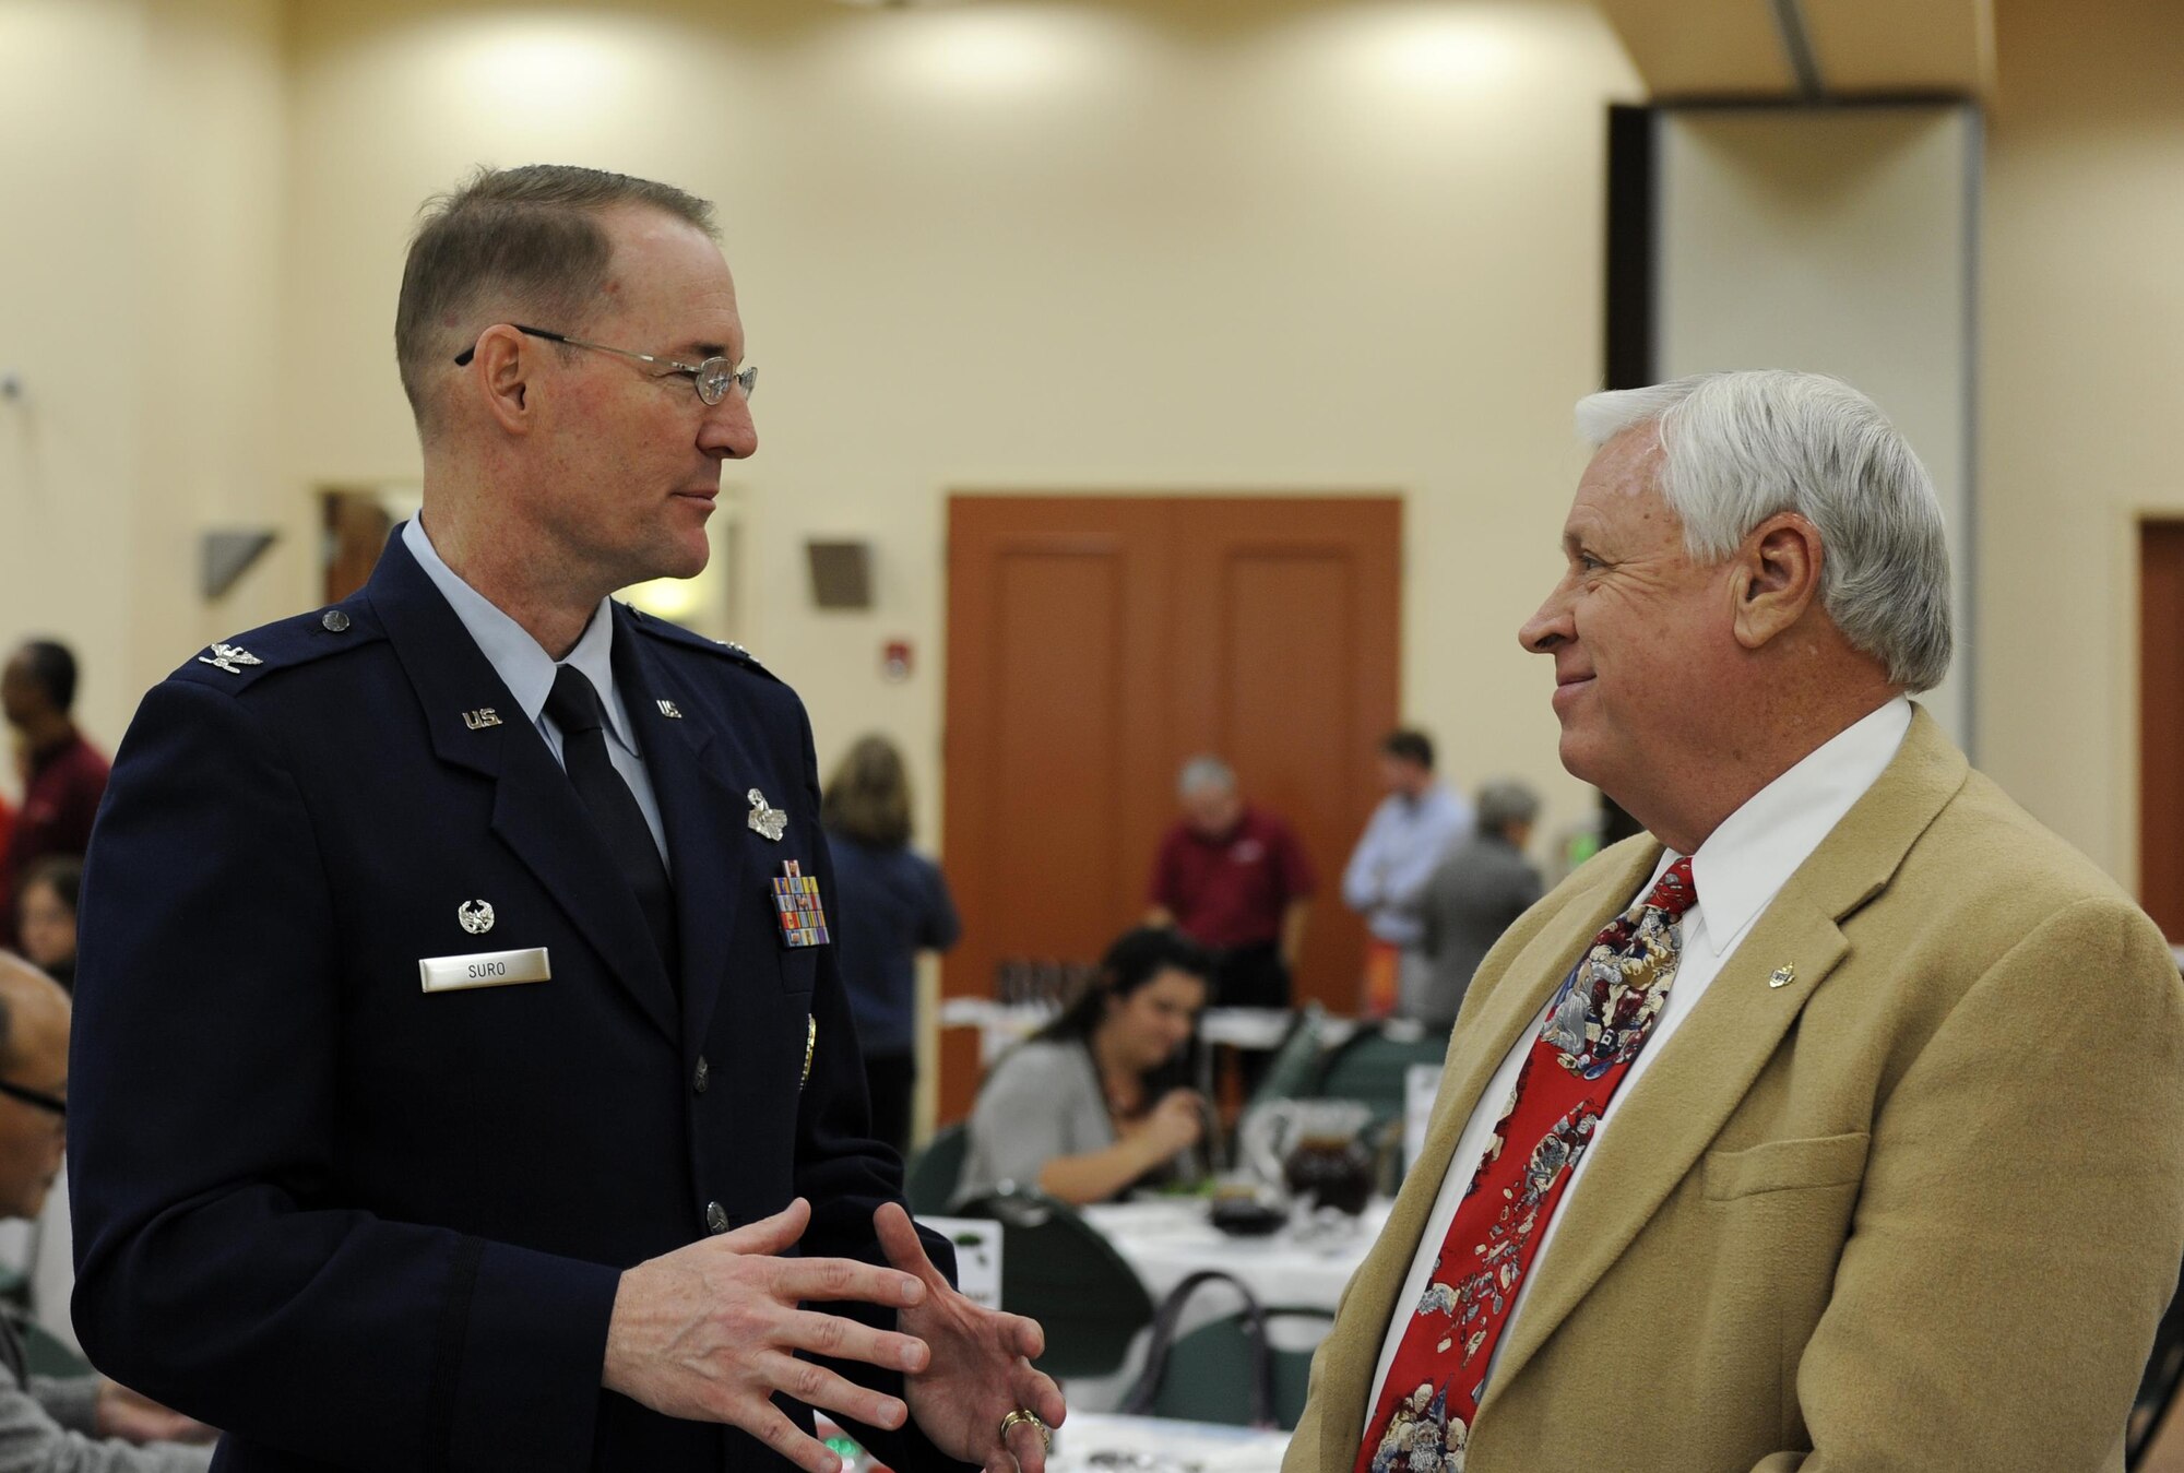
<path fill-rule="evenodd" d="M 911 785 L 885 736 L 860 736 L 819 800 L 841 914 L 834 942 L 865 1051 L 871 1134 L 906 1154 L 917 1086 L 917 953 L 963 933 L 941 868 L 911 850 Z"/>

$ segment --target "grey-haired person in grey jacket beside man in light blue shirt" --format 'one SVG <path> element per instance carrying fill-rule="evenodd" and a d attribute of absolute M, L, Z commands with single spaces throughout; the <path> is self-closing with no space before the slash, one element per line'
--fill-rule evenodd
<path fill-rule="evenodd" d="M 1518 916 L 1544 894 L 1540 870 L 1524 859 L 1540 796 L 1522 782 L 1479 789 L 1479 824 L 1457 841 L 1404 907 L 1417 927 L 1420 966 L 1404 968 L 1396 1012 L 1448 1032 L 1472 973 Z"/>

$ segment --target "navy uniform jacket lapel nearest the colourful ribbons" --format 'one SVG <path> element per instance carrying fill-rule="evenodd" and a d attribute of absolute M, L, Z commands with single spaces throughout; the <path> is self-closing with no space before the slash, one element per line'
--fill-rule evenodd
<path fill-rule="evenodd" d="M 734 730 L 714 730 L 699 702 L 675 680 L 675 669 L 651 649 L 636 621 L 616 608 L 616 667 L 638 728 L 638 743 L 651 765 L 653 793 L 668 830 L 668 863 L 675 879 L 675 927 L 681 938 L 684 1038 L 697 1049 L 712 1023 L 721 981 L 727 975 L 729 935 L 736 907 L 749 889 L 764 892 L 764 876 L 751 870 L 749 800 L 729 774 L 756 774 Z M 660 702 L 679 717 L 666 715 Z"/>

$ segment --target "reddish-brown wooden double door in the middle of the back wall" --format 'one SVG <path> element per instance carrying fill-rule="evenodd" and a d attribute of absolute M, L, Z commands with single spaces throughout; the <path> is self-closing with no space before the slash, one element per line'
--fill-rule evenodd
<path fill-rule="evenodd" d="M 1319 872 L 1297 997 L 1356 1003 L 1341 865 L 1396 723 L 1396 498 L 957 496 L 948 514 L 943 846 L 963 944 L 946 997 L 1002 959 L 1090 962 L 1144 914 L 1175 771 L 1219 752 Z M 943 1121 L 976 1088 L 943 1034 Z"/>

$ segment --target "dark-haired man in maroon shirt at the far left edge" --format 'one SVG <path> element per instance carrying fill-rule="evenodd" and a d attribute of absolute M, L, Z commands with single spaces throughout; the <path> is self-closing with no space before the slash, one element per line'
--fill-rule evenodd
<path fill-rule="evenodd" d="M 107 758 L 70 719 L 76 656 L 28 640 L 0 669 L 0 712 L 22 734 L 26 771 L 15 833 L 0 855 L 0 946 L 15 946 L 15 885 L 46 855 L 83 855 L 107 793 Z"/>

